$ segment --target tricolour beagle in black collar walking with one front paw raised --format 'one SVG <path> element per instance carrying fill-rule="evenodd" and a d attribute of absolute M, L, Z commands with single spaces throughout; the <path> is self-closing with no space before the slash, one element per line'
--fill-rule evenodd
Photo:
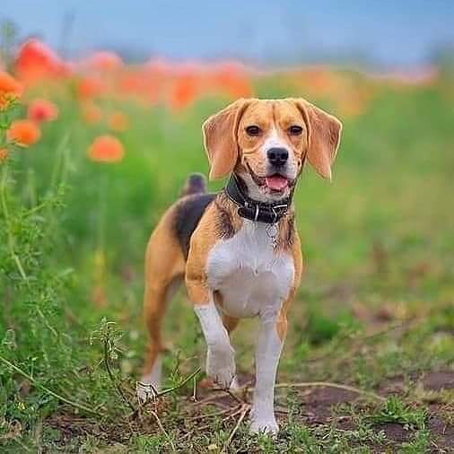
<path fill-rule="evenodd" d="M 302 272 L 292 195 L 306 160 L 331 179 L 341 129 L 302 99 L 240 99 L 205 121 L 210 179 L 230 179 L 207 194 L 201 175 L 189 177 L 150 238 L 144 320 L 151 342 L 140 398 L 159 388 L 162 316 L 185 280 L 205 336 L 206 373 L 221 387 L 236 385 L 231 331 L 242 318 L 259 318 L 251 430 L 278 431 L 275 374 Z"/>

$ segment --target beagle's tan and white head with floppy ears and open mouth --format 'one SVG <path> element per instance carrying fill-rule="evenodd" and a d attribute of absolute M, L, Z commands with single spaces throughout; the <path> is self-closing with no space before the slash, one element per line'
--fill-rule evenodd
<path fill-rule="evenodd" d="M 210 179 L 233 171 L 250 197 L 285 198 L 306 158 L 331 179 L 341 129 L 337 118 L 303 99 L 237 100 L 204 123 Z"/>

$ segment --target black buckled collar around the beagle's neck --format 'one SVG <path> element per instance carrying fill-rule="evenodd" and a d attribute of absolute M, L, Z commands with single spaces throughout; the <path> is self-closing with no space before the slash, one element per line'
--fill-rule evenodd
<path fill-rule="evenodd" d="M 249 219 L 249 221 L 270 224 L 277 223 L 287 213 L 290 205 L 292 205 L 293 189 L 288 198 L 279 202 L 266 204 L 246 196 L 240 188 L 241 186 L 244 186 L 244 183 L 239 181 L 238 177 L 234 174 L 231 174 L 231 178 L 223 190 L 231 201 L 239 207 L 238 214 L 245 219 Z"/>

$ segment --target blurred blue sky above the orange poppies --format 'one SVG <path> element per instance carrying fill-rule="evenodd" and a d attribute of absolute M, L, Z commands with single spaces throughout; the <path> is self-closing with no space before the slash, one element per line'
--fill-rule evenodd
<path fill-rule="evenodd" d="M 362 61 L 398 69 L 454 48 L 453 0 L 0 0 L 0 20 L 66 57 Z"/>

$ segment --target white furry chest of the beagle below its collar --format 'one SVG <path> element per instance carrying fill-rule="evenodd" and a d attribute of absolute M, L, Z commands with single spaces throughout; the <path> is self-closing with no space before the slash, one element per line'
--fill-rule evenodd
<path fill-rule="evenodd" d="M 210 289 L 221 293 L 220 309 L 240 318 L 275 315 L 294 274 L 292 257 L 273 248 L 266 224 L 246 220 L 231 239 L 216 243 L 206 270 Z"/>

